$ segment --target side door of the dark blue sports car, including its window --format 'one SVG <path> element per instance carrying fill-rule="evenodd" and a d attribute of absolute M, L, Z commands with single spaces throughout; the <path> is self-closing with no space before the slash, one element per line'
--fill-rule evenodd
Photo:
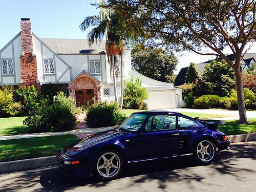
<path fill-rule="evenodd" d="M 145 160 L 168 157 L 177 154 L 180 133 L 176 129 L 177 116 L 169 114 L 152 115 L 147 119 L 147 132 L 134 134 L 129 141 L 129 159 Z"/>

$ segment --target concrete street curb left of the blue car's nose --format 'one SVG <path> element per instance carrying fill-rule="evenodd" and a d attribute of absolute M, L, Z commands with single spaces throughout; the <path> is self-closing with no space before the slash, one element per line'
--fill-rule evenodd
<path fill-rule="evenodd" d="M 56 156 L 38 157 L 0 163 L 0 173 L 57 165 Z"/>

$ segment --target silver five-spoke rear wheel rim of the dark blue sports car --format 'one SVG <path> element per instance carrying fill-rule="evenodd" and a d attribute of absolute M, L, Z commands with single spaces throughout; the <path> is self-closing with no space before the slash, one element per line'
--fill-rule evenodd
<path fill-rule="evenodd" d="M 195 147 L 195 157 L 201 164 L 210 164 L 216 156 L 216 146 L 214 142 L 204 139 L 200 140 Z"/>

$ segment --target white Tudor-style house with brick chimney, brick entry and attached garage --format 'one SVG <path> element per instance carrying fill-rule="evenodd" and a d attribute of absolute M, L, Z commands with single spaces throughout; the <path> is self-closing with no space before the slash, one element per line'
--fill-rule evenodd
<path fill-rule="evenodd" d="M 84 39 L 38 38 L 31 22 L 22 18 L 19 32 L 0 50 L 0 86 L 34 85 L 39 90 L 47 84 L 59 84 L 62 91 L 81 104 L 91 101 L 114 101 L 113 75 L 105 54 L 105 40 L 89 46 Z M 132 70 L 131 50 L 123 55 L 124 78 L 139 77 L 146 87 L 149 109 L 176 108 L 173 83 L 157 81 Z M 120 69 L 120 62 L 117 64 Z M 120 98 L 120 72 L 117 72 Z"/>

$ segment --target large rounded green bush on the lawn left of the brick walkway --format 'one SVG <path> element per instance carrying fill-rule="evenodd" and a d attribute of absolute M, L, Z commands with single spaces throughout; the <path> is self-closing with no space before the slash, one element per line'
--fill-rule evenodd
<path fill-rule="evenodd" d="M 24 120 L 29 132 L 61 132 L 75 129 L 76 116 L 69 106 L 54 103 L 42 109 L 38 115 L 28 116 Z"/>

